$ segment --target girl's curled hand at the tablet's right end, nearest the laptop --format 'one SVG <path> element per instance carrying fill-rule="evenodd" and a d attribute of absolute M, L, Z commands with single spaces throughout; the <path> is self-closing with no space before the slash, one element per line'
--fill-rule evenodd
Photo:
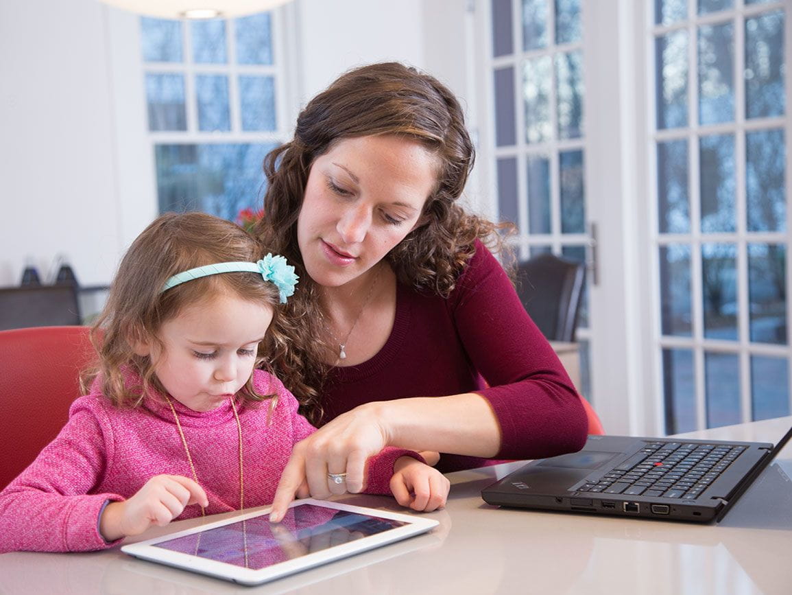
<path fill-rule="evenodd" d="M 390 491 L 402 506 L 425 513 L 443 508 L 450 489 L 445 475 L 411 456 L 401 456 L 394 463 Z"/>

